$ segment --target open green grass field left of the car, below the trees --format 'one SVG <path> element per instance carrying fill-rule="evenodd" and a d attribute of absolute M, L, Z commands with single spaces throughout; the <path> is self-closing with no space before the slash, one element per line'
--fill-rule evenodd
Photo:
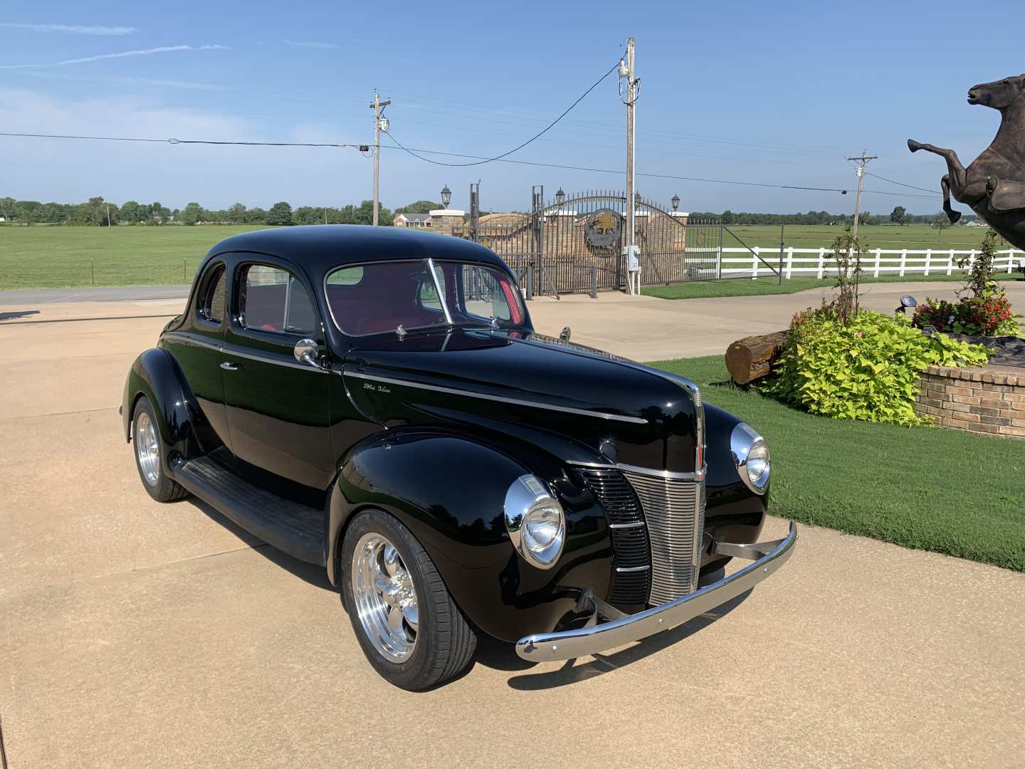
<path fill-rule="evenodd" d="M 192 283 L 207 250 L 261 227 L 0 227 L 0 289 Z"/>

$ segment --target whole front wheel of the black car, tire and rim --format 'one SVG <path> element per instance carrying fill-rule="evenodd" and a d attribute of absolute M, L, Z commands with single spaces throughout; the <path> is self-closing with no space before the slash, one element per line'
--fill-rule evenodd
<path fill-rule="evenodd" d="M 363 653 L 388 683 L 421 691 L 469 666 L 477 636 L 413 534 L 380 511 L 352 522 L 341 598 Z"/>

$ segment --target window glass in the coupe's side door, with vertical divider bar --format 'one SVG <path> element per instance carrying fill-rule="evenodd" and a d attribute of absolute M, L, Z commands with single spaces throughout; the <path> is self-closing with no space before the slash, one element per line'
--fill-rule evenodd
<path fill-rule="evenodd" d="M 246 265 L 239 278 L 239 315 L 245 328 L 290 334 L 313 333 L 317 328 L 310 293 L 287 270 Z"/>

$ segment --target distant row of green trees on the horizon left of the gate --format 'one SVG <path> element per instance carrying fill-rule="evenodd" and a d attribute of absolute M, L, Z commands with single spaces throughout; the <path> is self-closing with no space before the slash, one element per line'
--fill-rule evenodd
<path fill-rule="evenodd" d="M 379 221 L 389 226 L 400 213 L 426 213 L 443 208 L 441 203 L 418 200 L 395 211 L 381 206 Z M 89 198 L 85 203 L 40 203 L 35 200 L 0 198 L 0 219 L 4 224 L 18 225 L 86 225 L 110 227 L 114 225 L 370 225 L 373 224 L 373 201 L 364 200 L 359 205 L 341 208 L 331 206 L 292 206 L 281 201 L 269 209 L 249 208 L 235 203 L 223 209 L 204 208 L 199 203 L 189 203 L 184 208 L 168 208 L 160 202 L 139 203 L 128 200 L 118 205 L 101 197 Z"/>

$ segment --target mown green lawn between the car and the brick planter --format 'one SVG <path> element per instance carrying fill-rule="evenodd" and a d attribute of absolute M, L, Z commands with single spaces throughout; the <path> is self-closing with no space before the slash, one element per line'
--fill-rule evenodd
<path fill-rule="evenodd" d="M 766 437 L 773 515 L 1025 571 L 1025 442 L 813 416 L 728 383 L 722 356 L 651 365 Z"/>

